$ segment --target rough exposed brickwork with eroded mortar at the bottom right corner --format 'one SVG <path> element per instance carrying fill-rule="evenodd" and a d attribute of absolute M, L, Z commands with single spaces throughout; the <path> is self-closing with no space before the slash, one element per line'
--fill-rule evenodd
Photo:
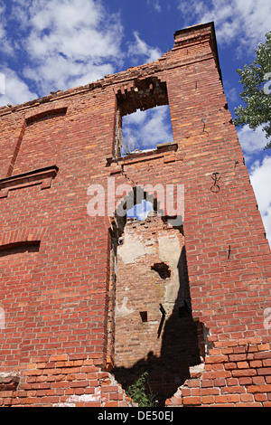
<path fill-rule="evenodd" d="M 167 406 L 270 407 L 270 345 L 260 338 L 210 350 L 204 370 L 192 373 Z"/>

